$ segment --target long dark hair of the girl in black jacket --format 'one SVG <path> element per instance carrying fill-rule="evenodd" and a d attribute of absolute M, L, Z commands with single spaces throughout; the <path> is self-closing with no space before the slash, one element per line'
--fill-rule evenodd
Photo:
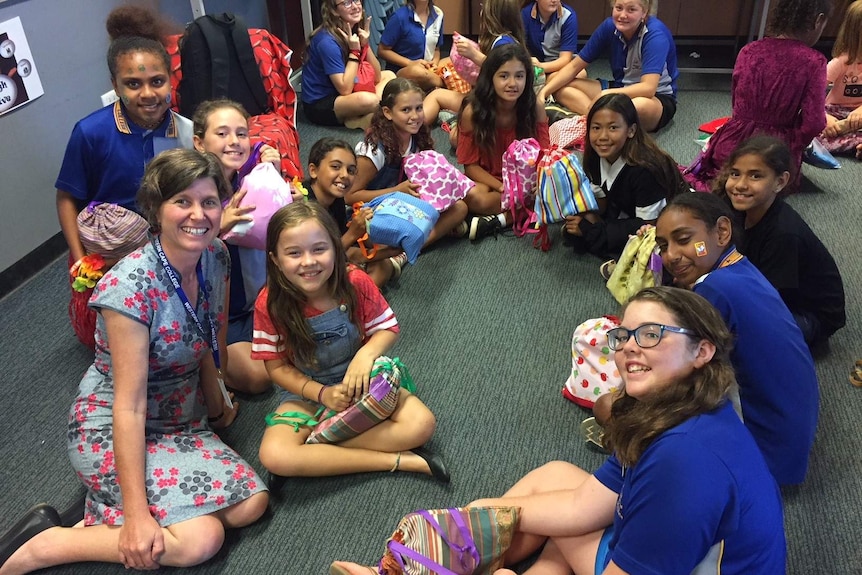
<path fill-rule="evenodd" d="M 611 110 L 623 118 L 626 127 L 637 125 L 634 136 L 623 145 L 620 157 L 630 166 L 646 168 L 666 191 L 667 199 L 680 192 L 688 192 L 688 184 L 679 173 L 676 161 L 658 147 L 655 140 L 641 128 L 638 112 L 632 99 L 625 94 L 605 94 L 595 101 L 587 113 L 587 143 L 584 146 L 584 171 L 594 184 L 602 181 L 599 156 L 590 144 L 590 126 L 599 110 Z"/>

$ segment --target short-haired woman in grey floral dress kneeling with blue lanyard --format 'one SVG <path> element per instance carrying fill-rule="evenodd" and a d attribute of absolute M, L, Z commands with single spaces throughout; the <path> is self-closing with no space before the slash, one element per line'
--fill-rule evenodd
<path fill-rule="evenodd" d="M 0 574 L 76 561 L 195 565 L 218 552 L 225 528 L 266 510 L 263 481 L 212 431 L 236 417 L 216 368 L 230 274 L 216 235 L 229 194 L 209 154 L 170 150 L 147 167 L 138 203 L 156 235 L 96 286 L 96 358 L 69 413 L 85 527 L 57 526 L 47 506 L 31 511 L 42 529 Z"/>

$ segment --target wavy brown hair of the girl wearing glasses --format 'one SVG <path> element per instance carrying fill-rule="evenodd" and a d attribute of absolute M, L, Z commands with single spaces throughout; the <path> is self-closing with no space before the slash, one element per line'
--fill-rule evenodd
<path fill-rule="evenodd" d="M 736 385 L 730 364 L 732 336 L 718 311 L 702 296 L 681 288 L 653 287 L 639 291 L 623 306 L 636 301 L 654 302 L 673 317 L 676 325 L 690 329 L 692 345 L 706 340 L 715 345 L 715 354 L 685 380 L 661 390 L 649 401 L 617 392 L 611 407 L 605 440 L 623 465 L 634 465 L 647 447 L 662 433 L 696 415 L 708 413 L 728 401 Z M 622 371 L 622 370 L 621 370 Z"/>

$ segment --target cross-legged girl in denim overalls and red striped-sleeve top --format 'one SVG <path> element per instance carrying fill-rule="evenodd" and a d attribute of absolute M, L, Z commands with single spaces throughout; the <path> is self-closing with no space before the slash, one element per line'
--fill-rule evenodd
<path fill-rule="evenodd" d="M 348 267 L 335 221 L 316 202 L 275 213 L 267 253 L 252 358 L 263 360 L 282 388 L 276 411 L 313 415 L 320 405 L 343 411 L 368 391 L 374 360 L 398 339 L 395 314 L 371 278 Z M 338 444 L 306 445 L 309 428 L 268 426 L 260 460 L 279 476 L 412 471 L 445 481 L 440 457 L 417 449 L 435 425 L 419 398 L 401 389 L 389 419 Z"/>

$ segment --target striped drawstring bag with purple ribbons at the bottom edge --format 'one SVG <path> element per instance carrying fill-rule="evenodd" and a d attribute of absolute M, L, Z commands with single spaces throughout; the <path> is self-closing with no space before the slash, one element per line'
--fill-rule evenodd
<path fill-rule="evenodd" d="M 386 542 L 381 575 L 488 575 L 503 567 L 519 507 L 464 507 L 407 514 Z"/>

